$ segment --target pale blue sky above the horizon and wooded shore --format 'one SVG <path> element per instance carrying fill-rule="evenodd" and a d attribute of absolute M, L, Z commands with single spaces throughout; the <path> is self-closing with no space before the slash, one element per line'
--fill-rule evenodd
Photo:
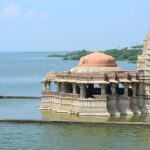
<path fill-rule="evenodd" d="M 0 52 L 130 47 L 149 29 L 150 0 L 0 0 Z"/>

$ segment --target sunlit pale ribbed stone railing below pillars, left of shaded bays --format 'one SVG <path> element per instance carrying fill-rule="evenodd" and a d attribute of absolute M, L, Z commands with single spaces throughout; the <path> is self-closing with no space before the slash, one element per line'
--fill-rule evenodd
<path fill-rule="evenodd" d="M 79 98 L 79 95 L 68 93 L 43 92 L 41 108 L 58 111 L 98 112 L 107 109 L 107 99 L 105 95 L 94 99 Z"/>

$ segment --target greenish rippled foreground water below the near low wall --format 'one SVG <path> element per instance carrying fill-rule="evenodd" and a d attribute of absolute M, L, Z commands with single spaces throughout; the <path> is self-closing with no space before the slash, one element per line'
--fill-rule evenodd
<path fill-rule="evenodd" d="M 0 124 L 11 150 L 149 150 L 150 128 L 93 124 Z"/>

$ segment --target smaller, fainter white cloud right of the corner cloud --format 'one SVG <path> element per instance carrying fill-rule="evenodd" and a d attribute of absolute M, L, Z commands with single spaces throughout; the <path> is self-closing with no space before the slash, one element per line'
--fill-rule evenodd
<path fill-rule="evenodd" d="M 45 20 L 48 18 L 48 13 L 46 12 L 38 12 L 36 10 L 29 10 L 26 14 L 26 18 L 28 20 L 33 20 L 33 19 L 41 19 Z"/>

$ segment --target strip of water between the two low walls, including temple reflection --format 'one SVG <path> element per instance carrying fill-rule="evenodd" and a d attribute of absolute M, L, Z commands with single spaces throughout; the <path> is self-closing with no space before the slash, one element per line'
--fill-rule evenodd
<path fill-rule="evenodd" d="M 46 120 L 66 122 L 140 122 L 150 123 L 150 115 L 143 116 L 76 116 L 74 114 L 56 113 L 39 110 L 40 99 L 3 99 L 0 100 L 0 119 Z"/>

